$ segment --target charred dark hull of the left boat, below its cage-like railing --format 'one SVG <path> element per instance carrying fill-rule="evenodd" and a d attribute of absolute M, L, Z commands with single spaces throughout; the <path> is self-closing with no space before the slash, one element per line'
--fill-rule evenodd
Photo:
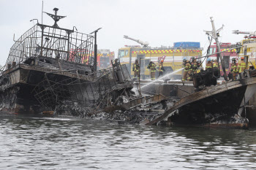
<path fill-rule="evenodd" d="M 20 63 L 0 77 L 0 107 L 2 111 L 28 114 L 54 110 L 60 104 L 92 107 L 108 93 L 115 101 L 124 90 L 129 95 L 133 87 L 126 66 L 117 72 L 122 74 L 112 68 L 78 74 L 78 70 L 64 72 Z"/>

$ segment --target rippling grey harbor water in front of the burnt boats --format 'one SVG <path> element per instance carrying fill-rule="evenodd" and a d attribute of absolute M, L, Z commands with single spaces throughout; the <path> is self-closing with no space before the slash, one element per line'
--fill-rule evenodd
<path fill-rule="evenodd" d="M 255 136 L 0 113 L 0 169 L 255 169 Z"/>

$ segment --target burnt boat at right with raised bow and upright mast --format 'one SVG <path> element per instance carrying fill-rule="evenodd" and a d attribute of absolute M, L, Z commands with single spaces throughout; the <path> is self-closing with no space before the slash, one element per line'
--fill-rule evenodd
<path fill-rule="evenodd" d="M 256 71 L 244 70 L 239 74 L 239 80 L 230 77 L 227 80 L 225 63 L 220 51 L 219 41 L 215 30 L 214 20 L 211 18 L 213 31 L 211 34 L 217 44 L 217 61 L 221 61 L 224 79 L 217 84 L 217 77 L 213 70 L 201 71 L 194 77 L 194 93 L 181 98 L 172 107 L 146 125 L 195 125 L 221 128 L 248 128 L 246 117 L 248 101 L 256 92 Z M 229 49 L 232 50 L 232 49 Z M 209 55 L 206 55 L 208 57 Z M 248 61 L 246 61 L 248 62 Z M 218 63 L 218 65 L 220 65 Z M 247 64 L 246 64 L 247 67 Z M 200 88 L 201 87 L 201 88 Z"/>

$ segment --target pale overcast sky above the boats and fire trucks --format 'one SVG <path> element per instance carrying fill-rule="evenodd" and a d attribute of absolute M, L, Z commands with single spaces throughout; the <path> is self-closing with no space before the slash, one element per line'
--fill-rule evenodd
<path fill-rule="evenodd" d="M 211 31 L 210 17 L 216 28 L 222 24 L 220 42 L 240 42 L 243 34 L 233 30 L 255 31 L 254 0 L 44 0 L 43 11 L 67 15 L 59 21 L 61 28 L 78 28 L 89 34 L 102 28 L 97 34 L 98 49 L 109 49 L 116 56 L 124 45 L 138 45 L 123 36 L 131 36 L 149 42 L 151 47 L 173 46 L 173 42 L 200 42 L 205 50 L 208 38 L 204 30 Z M 0 0 L 0 64 L 7 60 L 10 47 L 25 31 L 34 26 L 31 19 L 53 25 L 53 20 L 42 15 L 42 0 Z"/>

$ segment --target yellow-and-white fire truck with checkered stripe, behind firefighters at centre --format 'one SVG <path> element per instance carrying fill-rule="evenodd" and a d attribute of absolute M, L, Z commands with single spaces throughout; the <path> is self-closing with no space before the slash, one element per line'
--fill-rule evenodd
<path fill-rule="evenodd" d="M 198 42 L 199 43 L 199 42 Z M 179 44 L 178 44 L 179 45 Z M 121 64 L 126 64 L 129 74 L 132 76 L 132 65 L 135 60 L 140 60 L 140 75 L 143 79 L 150 77 L 150 71 L 147 69 L 148 63 L 153 61 L 158 65 L 158 62 L 163 56 L 165 56 L 165 61 L 163 66 L 165 72 L 173 72 L 175 70 L 182 68 L 182 61 L 184 58 L 188 60 L 192 56 L 200 57 L 202 55 L 203 48 L 199 47 L 140 47 L 140 46 L 126 46 L 118 50 L 118 58 Z M 178 72 L 177 74 L 181 74 Z"/>

